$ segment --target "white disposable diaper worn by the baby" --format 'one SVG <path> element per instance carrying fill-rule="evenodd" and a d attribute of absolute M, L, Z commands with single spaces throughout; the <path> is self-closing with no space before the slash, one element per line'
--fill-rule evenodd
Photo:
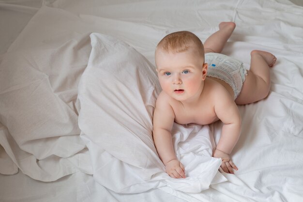
<path fill-rule="evenodd" d="M 227 82 L 234 91 L 234 99 L 236 99 L 247 75 L 243 62 L 220 53 L 206 53 L 205 62 L 208 63 L 207 76 Z"/>

